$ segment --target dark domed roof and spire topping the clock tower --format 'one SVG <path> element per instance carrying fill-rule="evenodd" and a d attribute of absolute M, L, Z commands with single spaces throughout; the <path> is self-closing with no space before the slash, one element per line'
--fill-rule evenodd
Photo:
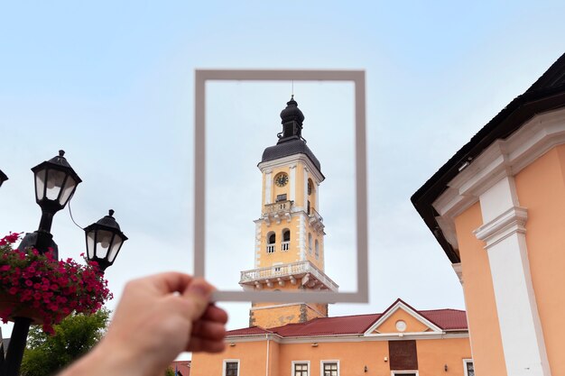
<path fill-rule="evenodd" d="M 282 132 L 277 134 L 279 141 L 274 146 L 270 146 L 263 151 L 261 162 L 268 160 L 277 160 L 293 154 L 304 154 L 320 171 L 320 160 L 316 158 L 314 153 L 306 145 L 306 140 L 302 138 L 302 122 L 304 115 L 298 103 L 294 100 L 294 96 L 286 103 L 286 108 L 281 111 Z"/>

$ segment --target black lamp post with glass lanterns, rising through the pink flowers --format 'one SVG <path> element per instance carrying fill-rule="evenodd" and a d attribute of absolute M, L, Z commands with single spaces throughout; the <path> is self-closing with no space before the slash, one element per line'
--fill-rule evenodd
<path fill-rule="evenodd" d="M 75 170 L 70 167 L 64 155 L 65 151 L 59 151 L 58 156 L 32 168 L 35 180 L 35 202 L 42 208 L 42 218 L 37 231 L 32 234 L 25 234 L 22 243 L 18 246 L 19 251 L 33 247 L 42 254 L 51 251 L 53 258 L 59 259 L 58 247 L 53 242 L 53 235 L 51 234 L 53 216 L 67 205 L 70 197 L 73 196 L 77 186 L 82 181 Z M 4 173 L 1 172 L 0 185 L 4 181 L 2 176 L 5 177 Z M 105 216 L 96 224 L 89 225 L 85 229 L 87 245 L 88 236 L 94 236 L 92 251 L 88 248 L 88 260 L 97 261 L 102 272 L 114 263 L 117 252 L 127 240 L 112 216 L 113 213 L 114 211 L 111 210 L 109 216 Z M 108 234 L 111 235 L 109 240 Z M 104 253 L 103 249 L 109 250 L 109 252 Z M 92 257 L 90 257 L 91 254 Z M 31 324 L 32 318 L 30 317 L 14 317 L 14 329 L 12 330 L 8 351 L 5 359 L 4 354 L 2 354 L 3 358 L 0 361 L 0 376 L 18 376 Z"/>

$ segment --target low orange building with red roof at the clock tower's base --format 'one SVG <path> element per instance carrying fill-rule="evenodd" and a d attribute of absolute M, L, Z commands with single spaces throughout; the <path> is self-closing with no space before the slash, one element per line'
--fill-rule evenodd
<path fill-rule="evenodd" d="M 323 317 L 228 332 L 227 350 L 195 353 L 192 376 L 474 376 L 464 311 Z"/>

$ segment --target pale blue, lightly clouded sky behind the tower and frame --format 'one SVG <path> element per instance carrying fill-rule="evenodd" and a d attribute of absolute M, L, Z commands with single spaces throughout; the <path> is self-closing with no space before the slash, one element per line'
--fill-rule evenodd
<path fill-rule="evenodd" d="M 563 11 L 558 1 L 1 2 L 0 170 L 10 179 L 0 234 L 36 230 L 30 169 L 65 150 L 83 179 L 70 202 L 77 223 L 112 208 L 129 237 L 106 274 L 116 307 L 127 280 L 192 271 L 194 69 L 364 69 L 370 300 L 329 313 L 382 312 L 396 298 L 463 309 L 410 197 L 565 51 Z M 206 203 L 207 273 L 220 287 L 253 268 L 256 164 L 291 94 L 284 82 L 208 85 L 208 197 L 218 199 Z M 326 271 L 355 290 L 352 87 L 295 83 L 294 95 L 327 178 Z M 60 257 L 85 252 L 68 208 L 52 234 Z M 247 325 L 248 303 L 219 304 L 229 328 Z"/>

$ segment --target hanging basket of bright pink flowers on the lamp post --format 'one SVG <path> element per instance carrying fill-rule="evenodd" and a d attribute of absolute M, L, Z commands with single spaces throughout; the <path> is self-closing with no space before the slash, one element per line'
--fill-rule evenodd
<path fill-rule="evenodd" d="M 93 313 L 112 298 L 96 262 L 57 261 L 52 252 L 40 254 L 31 248 L 20 252 L 12 247 L 18 238 L 19 234 L 9 234 L 0 239 L 3 322 L 29 317 L 52 333 L 52 326 L 71 312 Z"/>

